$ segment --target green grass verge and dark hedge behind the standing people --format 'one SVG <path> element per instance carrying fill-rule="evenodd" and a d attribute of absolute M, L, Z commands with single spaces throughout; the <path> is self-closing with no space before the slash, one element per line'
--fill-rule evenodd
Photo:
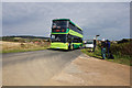
<path fill-rule="evenodd" d="M 132 41 L 131 40 L 121 40 L 118 42 L 111 42 L 111 54 L 114 56 L 114 59 L 106 58 L 106 61 L 114 62 L 119 64 L 130 65 L 132 66 Z M 89 48 L 82 48 L 82 53 L 97 57 L 101 57 L 101 45 L 98 44 L 96 51 L 92 53 Z"/>

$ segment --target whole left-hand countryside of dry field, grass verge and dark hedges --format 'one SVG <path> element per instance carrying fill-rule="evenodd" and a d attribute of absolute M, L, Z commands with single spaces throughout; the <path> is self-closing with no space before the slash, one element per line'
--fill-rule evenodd
<path fill-rule="evenodd" d="M 40 37 L 11 37 L 4 36 L 0 41 L 0 53 L 18 53 L 29 51 L 41 51 L 50 47 L 48 38 Z"/>

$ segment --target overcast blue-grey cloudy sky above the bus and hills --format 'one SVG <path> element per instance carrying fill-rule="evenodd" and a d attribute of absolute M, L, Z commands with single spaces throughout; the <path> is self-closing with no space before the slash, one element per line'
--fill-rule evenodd
<path fill-rule="evenodd" d="M 56 18 L 78 24 L 84 40 L 130 37 L 129 2 L 2 2 L 2 35 L 50 36 Z"/>

